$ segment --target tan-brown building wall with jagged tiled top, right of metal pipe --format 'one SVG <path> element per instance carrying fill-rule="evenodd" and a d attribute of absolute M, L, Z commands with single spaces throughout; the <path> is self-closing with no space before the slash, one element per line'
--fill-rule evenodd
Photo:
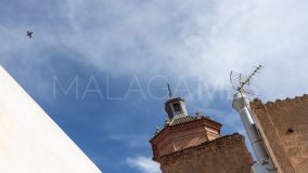
<path fill-rule="evenodd" d="M 251 103 L 266 149 L 279 173 L 308 172 L 308 95 Z"/>

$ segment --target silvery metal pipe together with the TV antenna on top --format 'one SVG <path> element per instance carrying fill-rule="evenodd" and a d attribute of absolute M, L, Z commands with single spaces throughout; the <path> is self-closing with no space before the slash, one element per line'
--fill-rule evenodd
<path fill-rule="evenodd" d="M 258 128 L 253 119 L 251 111 L 249 99 L 245 93 L 251 94 L 249 89 L 251 81 L 254 76 L 261 69 L 261 65 L 247 77 L 242 74 L 234 74 L 231 71 L 230 81 L 236 93 L 233 95 L 232 106 L 239 112 L 245 131 L 253 146 L 256 155 L 257 162 L 252 165 L 252 173 L 277 173 L 277 170 L 272 163 L 271 158 L 267 154 L 267 149 L 262 144 L 262 137 L 258 132 Z"/>

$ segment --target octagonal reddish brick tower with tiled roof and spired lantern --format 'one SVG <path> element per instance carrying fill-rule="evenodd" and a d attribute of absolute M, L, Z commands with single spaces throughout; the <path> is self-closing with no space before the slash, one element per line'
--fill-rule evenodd
<path fill-rule="evenodd" d="M 174 97 L 169 84 L 168 91 L 169 98 L 165 103 L 168 120 L 164 129 L 157 129 L 155 136 L 150 141 L 156 161 L 162 156 L 220 137 L 221 124 L 219 122 L 200 112 L 190 116 L 185 101 L 181 97 Z"/>

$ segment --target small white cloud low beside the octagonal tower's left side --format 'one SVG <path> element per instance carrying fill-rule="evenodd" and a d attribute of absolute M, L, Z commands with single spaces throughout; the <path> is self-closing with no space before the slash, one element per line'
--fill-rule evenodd
<path fill-rule="evenodd" d="M 141 173 L 161 173 L 159 164 L 143 156 L 127 158 L 126 163 Z"/>

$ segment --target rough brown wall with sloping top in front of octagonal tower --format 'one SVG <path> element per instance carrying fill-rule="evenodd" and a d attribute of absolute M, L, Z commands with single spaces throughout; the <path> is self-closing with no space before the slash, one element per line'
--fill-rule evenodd
<path fill-rule="evenodd" d="M 163 156 L 163 173 L 251 173 L 252 157 L 240 134 Z"/>

